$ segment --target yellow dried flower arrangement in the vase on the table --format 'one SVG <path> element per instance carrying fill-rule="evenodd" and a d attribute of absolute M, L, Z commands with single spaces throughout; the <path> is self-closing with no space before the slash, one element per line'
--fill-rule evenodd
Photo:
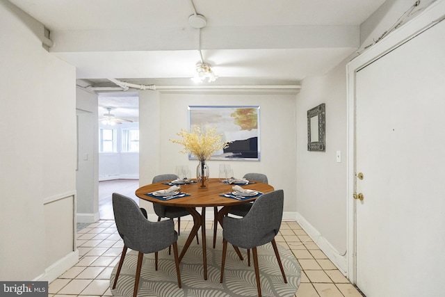
<path fill-rule="evenodd" d="M 206 161 L 210 156 L 221 149 L 229 147 L 230 141 L 223 142 L 223 134 L 216 134 L 217 127 L 202 129 L 194 125 L 191 131 L 181 129 L 177 133 L 181 136 L 181 140 L 170 139 L 172 143 L 179 143 L 184 147 L 182 152 L 184 154 L 194 154 L 198 160 Z"/>

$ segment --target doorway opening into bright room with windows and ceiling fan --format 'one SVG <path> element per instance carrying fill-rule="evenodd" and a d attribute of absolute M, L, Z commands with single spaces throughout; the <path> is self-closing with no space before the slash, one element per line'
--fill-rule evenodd
<path fill-rule="evenodd" d="M 138 93 L 102 93 L 99 115 L 99 215 L 113 220 L 113 193 L 139 198 Z"/>

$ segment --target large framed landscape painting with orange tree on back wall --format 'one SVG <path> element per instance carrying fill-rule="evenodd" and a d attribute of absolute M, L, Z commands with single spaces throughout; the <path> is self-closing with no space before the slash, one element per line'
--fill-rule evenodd
<path fill-rule="evenodd" d="M 259 161 L 259 106 L 188 106 L 188 115 L 190 128 L 217 127 L 223 141 L 232 141 L 211 160 Z"/>

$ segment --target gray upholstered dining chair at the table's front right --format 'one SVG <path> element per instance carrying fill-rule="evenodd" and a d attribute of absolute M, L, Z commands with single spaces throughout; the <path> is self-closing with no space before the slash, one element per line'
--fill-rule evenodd
<path fill-rule="evenodd" d="M 220 282 L 223 282 L 224 278 L 227 242 L 238 248 L 247 248 L 248 250 L 252 248 L 258 296 L 261 296 L 257 246 L 262 246 L 270 242 L 275 251 L 284 282 L 287 283 L 280 253 L 278 252 L 277 243 L 275 243 L 275 235 L 280 231 L 283 204 L 284 191 L 276 190 L 259 196 L 259 198 L 252 203 L 248 214 L 243 218 L 232 218 L 230 216 L 223 218 L 223 260 L 221 262 Z"/>

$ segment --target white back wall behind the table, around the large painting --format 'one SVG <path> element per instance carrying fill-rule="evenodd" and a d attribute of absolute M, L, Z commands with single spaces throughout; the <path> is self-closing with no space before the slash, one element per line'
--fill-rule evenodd
<path fill-rule="evenodd" d="M 148 93 L 151 92 L 151 93 Z M 284 189 L 284 209 L 295 219 L 296 211 L 296 95 L 232 93 L 140 92 L 140 184 L 150 184 L 154 175 L 175 173 L 175 166 L 188 165 L 195 172 L 197 161 L 181 154 L 169 139 L 188 129 L 189 105 L 259 105 L 261 161 L 211 161 L 210 176 L 218 177 L 220 163 L 229 163 L 234 174 L 263 172 L 275 189 Z M 151 203 L 140 202 L 148 209 Z"/>

